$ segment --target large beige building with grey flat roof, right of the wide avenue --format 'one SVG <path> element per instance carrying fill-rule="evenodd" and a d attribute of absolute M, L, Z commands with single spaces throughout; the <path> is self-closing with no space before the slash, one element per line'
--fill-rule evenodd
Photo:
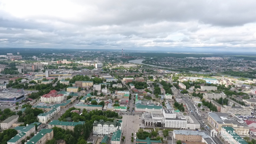
<path fill-rule="evenodd" d="M 249 134 L 249 126 L 243 120 L 232 113 L 209 113 L 207 123 L 210 124 L 217 132 L 222 126 L 232 127 L 236 132 L 244 131 L 243 135 Z"/>

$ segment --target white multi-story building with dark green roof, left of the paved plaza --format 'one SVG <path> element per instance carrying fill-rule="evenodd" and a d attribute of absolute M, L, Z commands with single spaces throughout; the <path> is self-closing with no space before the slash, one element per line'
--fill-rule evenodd
<path fill-rule="evenodd" d="M 117 130 L 122 131 L 122 120 L 116 121 L 114 120 L 113 122 L 104 122 L 103 120 L 94 121 L 93 123 L 93 128 L 92 128 L 92 134 L 94 136 L 110 136 L 113 135 L 114 132 Z"/>

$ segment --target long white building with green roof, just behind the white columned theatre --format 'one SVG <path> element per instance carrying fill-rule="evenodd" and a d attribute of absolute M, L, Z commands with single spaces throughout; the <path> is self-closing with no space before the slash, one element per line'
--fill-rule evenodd
<path fill-rule="evenodd" d="M 135 112 L 162 113 L 163 107 L 155 105 L 141 105 L 138 103 L 135 105 Z"/>

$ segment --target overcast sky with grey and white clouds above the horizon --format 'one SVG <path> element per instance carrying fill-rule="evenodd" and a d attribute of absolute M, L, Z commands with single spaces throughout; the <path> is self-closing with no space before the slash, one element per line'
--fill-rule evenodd
<path fill-rule="evenodd" d="M 256 51 L 255 6 L 255 0 L 1 0 L 0 47 Z"/>

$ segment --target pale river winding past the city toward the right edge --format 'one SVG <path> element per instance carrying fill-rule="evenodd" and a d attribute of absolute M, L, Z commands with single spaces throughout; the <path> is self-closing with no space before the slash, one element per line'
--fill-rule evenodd
<path fill-rule="evenodd" d="M 152 59 L 152 58 L 151 58 L 151 59 Z M 162 67 L 162 66 L 156 66 L 156 65 L 145 64 L 145 63 L 142 63 L 143 60 L 145 60 L 145 59 L 129 60 L 129 62 L 130 62 L 130 63 L 135 63 L 135 64 L 140 64 L 140 65 L 148 65 L 148 66 L 155 67 L 155 68 L 169 68 L 169 67 Z M 176 68 L 170 68 L 170 69 L 176 69 Z M 192 74 L 212 74 L 212 72 L 198 72 L 198 71 L 192 71 L 192 70 L 189 70 L 189 72 L 192 73 Z M 230 75 L 221 75 L 221 76 L 228 76 L 228 77 L 234 77 L 234 78 L 241 78 L 240 76 L 230 76 Z M 252 78 L 249 78 L 249 77 L 244 77 L 244 78 L 252 79 Z"/>

